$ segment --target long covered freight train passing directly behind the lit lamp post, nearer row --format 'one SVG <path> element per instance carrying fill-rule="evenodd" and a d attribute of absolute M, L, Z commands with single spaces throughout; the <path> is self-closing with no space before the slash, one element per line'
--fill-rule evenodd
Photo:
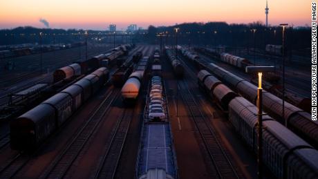
<path fill-rule="evenodd" d="M 218 104 L 228 109 L 230 122 L 256 153 L 256 106 L 238 97 L 207 70 L 198 73 L 198 84 Z M 318 151 L 269 115 L 263 115 L 262 138 L 263 162 L 277 178 L 318 178 Z"/>

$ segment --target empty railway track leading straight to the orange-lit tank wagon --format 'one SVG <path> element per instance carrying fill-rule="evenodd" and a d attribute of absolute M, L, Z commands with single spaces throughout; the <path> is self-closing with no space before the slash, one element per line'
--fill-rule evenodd
<path fill-rule="evenodd" d="M 114 178 L 118 161 L 124 147 L 124 142 L 133 118 L 133 109 L 123 109 L 122 117 L 118 120 L 111 140 L 106 144 L 106 153 L 102 156 L 95 178 Z"/>

